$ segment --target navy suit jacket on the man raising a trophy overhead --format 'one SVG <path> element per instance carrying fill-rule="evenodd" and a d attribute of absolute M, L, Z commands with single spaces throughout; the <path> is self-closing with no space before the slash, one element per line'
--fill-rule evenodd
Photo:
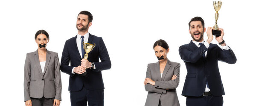
<path fill-rule="evenodd" d="M 206 59 L 203 54 L 207 51 Z M 228 64 L 236 63 L 236 56 L 231 49 L 222 50 L 216 44 L 197 47 L 192 41 L 179 48 L 181 59 L 185 62 L 187 75 L 183 86 L 183 96 L 202 96 L 208 81 L 212 95 L 225 95 L 218 69 L 218 60 Z"/>

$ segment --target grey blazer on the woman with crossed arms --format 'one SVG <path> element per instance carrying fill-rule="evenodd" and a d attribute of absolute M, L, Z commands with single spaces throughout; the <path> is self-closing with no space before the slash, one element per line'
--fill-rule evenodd
<path fill-rule="evenodd" d="M 175 80 L 172 80 L 173 75 L 177 75 Z M 145 90 L 148 91 L 145 106 L 158 106 L 159 100 L 162 106 L 180 106 L 176 93 L 180 81 L 180 63 L 168 60 L 162 78 L 159 62 L 148 64 L 146 78 L 155 81 L 155 85 L 145 85 Z"/>

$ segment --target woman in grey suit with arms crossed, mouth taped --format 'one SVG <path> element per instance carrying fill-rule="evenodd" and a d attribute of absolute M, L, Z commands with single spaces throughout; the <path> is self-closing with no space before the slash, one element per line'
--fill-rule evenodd
<path fill-rule="evenodd" d="M 156 63 L 148 64 L 145 90 L 148 91 L 145 106 L 180 106 L 176 88 L 180 78 L 180 64 L 169 61 L 168 44 L 160 39 L 154 43 Z"/>

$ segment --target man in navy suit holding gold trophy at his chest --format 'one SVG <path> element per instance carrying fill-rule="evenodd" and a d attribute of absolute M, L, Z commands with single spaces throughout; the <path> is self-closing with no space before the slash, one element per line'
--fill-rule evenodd
<path fill-rule="evenodd" d="M 87 106 L 87 102 L 89 106 L 104 106 L 104 84 L 101 71 L 110 69 L 111 61 L 102 38 L 88 32 L 92 20 L 93 16 L 90 12 L 79 13 L 76 22 L 78 34 L 65 42 L 62 52 L 60 69 L 70 75 L 71 106 Z M 88 59 L 83 59 L 82 42 L 96 44 L 88 53 Z M 82 73 L 86 73 L 84 74 L 86 76 Z"/>

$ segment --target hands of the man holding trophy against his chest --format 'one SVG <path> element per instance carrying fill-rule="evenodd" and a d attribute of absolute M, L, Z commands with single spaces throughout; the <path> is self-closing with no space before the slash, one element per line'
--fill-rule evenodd
<path fill-rule="evenodd" d="M 89 62 L 87 59 L 82 59 L 81 60 L 81 65 L 79 65 L 78 67 L 74 68 L 74 73 L 82 74 L 82 73 L 86 72 L 86 69 L 90 68 L 91 64 L 92 63 Z"/>

